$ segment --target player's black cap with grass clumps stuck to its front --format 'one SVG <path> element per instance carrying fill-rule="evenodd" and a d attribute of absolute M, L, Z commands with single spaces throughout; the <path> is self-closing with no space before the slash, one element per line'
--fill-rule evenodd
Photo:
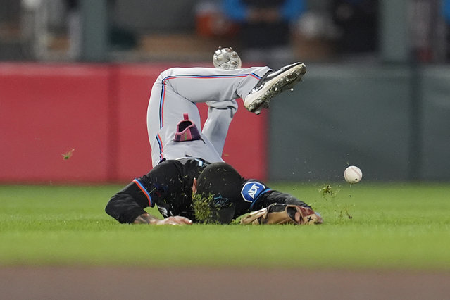
<path fill-rule="evenodd" d="M 208 216 L 204 223 L 228 224 L 235 216 L 239 201 L 242 176 L 227 163 L 212 163 L 197 178 L 197 199 L 207 204 Z M 205 208 L 205 206 L 203 206 Z M 199 206 L 194 203 L 196 217 Z"/>

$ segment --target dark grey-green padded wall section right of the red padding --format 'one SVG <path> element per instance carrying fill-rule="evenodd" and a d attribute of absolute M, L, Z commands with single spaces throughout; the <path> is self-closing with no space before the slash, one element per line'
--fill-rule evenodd
<path fill-rule="evenodd" d="M 270 110 L 271 180 L 450 180 L 449 66 L 308 65 Z"/>

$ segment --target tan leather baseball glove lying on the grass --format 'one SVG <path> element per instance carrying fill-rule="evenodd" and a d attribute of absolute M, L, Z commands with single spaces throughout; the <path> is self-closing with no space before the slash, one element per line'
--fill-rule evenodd
<path fill-rule="evenodd" d="M 253 211 L 242 218 L 241 224 L 295 224 L 313 225 L 323 223 L 322 217 L 311 208 L 292 204 L 270 204 L 259 211 Z"/>

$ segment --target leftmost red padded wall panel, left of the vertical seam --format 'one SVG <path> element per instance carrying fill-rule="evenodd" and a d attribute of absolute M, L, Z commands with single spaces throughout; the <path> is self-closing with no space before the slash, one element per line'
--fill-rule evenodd
<path fill-rule="evenodd" d="M 107 180 L 108 77 L 104 66 L 1 64 L 0 180 Z"/>

